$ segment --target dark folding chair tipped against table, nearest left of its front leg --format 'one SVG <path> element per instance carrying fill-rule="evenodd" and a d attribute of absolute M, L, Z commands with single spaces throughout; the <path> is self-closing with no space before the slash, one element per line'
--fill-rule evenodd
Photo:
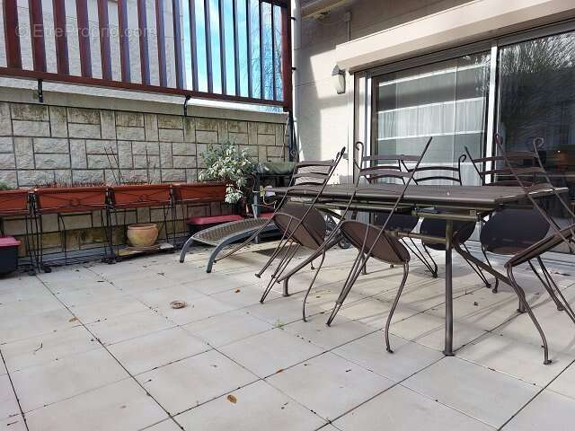
<path fill-rule="evenodd" d="M 420 157 L 418 157 L 415 161 L 416 168 L 419 167 L 421 159 L 426 154 L 430 143 L 431 137 L 429 137 L 429 140 L 427 141 L 427 144 L 425 145 Z M 367 172 L 370 172 L 370 169 L 371 168 L 363 168 L 363 172 L 360 172 L 360 176 L 365 176 Z M 382 175 L 384 173 L 385 172 L 380 172 Z M 396 211 L 398 210 L 399 205 L 403 200 L 405 190 L 407 190 L 413 181 L 414 173 L 415 170 L 411 170 L 411 172 L 402 172 L 400 174 L 400 177 L 404 180 L 403 189 L 395 200 L 394 206 L 390 209 L 383 224 L 376 226 L 374 224 L 366 224 L 356 220 L 346 220 L 341 223 L 341 234 L 347 238 L 355 248 L 358 249 L 358 256 L 353 261 L 348 277 L 345 280 L 345 283 L 341 289 L 341 293 L 335 305 L 333 306 L 332 313 L 327 321 L 328 326 L 332 324 L 333 319 L 341 309 L 341 305 L 349 295 L 351 287 L 355 284 L 363 268 L 365 268 L 367 259 L 373 258 L 385 263 L 389 263 L 391 265 L 401 265 L 403 267 L 402 282 L 399 286 L 399 290 L 395 296 L 394 303 L 392 304 L 392 309 L 385 323 L 385 346 L 387 351 L 390 353 L 392 352 L 392 349 L 389 345 L 389 326 L 395 308 L 397 307 L 397 303 L 399 302 L 399 298 L 402 295 L 403 286 L 405 286 L 405 281 L 407 280 L 407 276 L 409 274 L 409 262 L 411 257 L 410 252 L 403 245 L 403 243 L 400 242 L 398 237 L 388 230 L 388 225 L 392 217 L 396 214 Z M 356 186 L 356 189 L 360 188 L 360 185 Z"/>

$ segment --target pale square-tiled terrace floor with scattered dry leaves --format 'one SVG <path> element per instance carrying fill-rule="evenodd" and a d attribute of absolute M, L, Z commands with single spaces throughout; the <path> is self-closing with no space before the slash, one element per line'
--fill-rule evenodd
<path fill-rule="evenodd" d="M 332 327 L 324 322 L 353 251 L 258 302 L 266 256 L 252 247 L 204 270 L 197 249 L 117 265 L 0 279 L 0 429 L 558 430 L 575 428 L 575 327 L 535 277 L 519 279 L 550 342 L 508 286 L 494 295 L 456 259 L 455 357 L 443 347 L 444 280 L 412 262 L 391 327 L 401 269 L 372 262 Z M 438 260 L 441 257 L 438 256 Z M 575 268 L 550 263 L 575 301 Z M 188 305 L 173 310 L 169 303 Z"/>

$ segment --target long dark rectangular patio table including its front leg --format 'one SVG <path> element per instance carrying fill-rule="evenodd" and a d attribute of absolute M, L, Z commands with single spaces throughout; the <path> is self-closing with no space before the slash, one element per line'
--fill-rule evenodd
<path fill-rule="evenodd" d="M 401 196 L 402 184 L 361 184 L 356 190 L 351 209 L 364 211 L 391 210 Z M 344 209 L 353 196 L 355 184 L 328 185 L 317 201 L 318 207 Z M 556 189 L 560 193 L 567 189 Z M 313 198 L 320 191 L 319 186 L 294 186 L 290 188 L 272 188 L 278 195 L 288 193 L 295 198 Z M 553 194 L 552 189 L 539 189 L 531 193 L 534 198 Z M 454 221 L 478 222 L 496 209 L 517 206 L 526 199 L 526 192 L 520 187 L 493 186 L 450 186 L 450 185 L 413 185 L 403 195 L 398 212 L 413 216 L 436 218 L 446 221 L 446 235 L 443 238 L 429 237 L 420 233 L 398 233 L 398 236 L 425 239 L 445 243 L 446 249 L 446 328 L 444 355 L 453 356 L 453 225 Z M 438 211 L 440 210 L 440 211 Z M 313 256 L 312 256 L 313 257 Z M 312 258 L 310 257 L 310 259 Z M 306 259 L 307 261 L 308 259 Z M 303 262 L 301 265 L 303 265 Z"/>

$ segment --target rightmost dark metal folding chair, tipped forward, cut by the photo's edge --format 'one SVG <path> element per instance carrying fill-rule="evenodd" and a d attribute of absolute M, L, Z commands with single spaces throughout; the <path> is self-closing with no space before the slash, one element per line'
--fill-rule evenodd
<path fill-rule="evenodd" d="M 454 247 L 459 254 L 465 257 L 465 259 L 472 259 L 473 262 L 475 262 L 478 266 L 482 267 L 484 270 L 491 273 L 491 275 L 493 275 L 494 277 L 498 277 L 503 283 L 509 284 L 509 286 L 513 288 L 517 297 L 519 298 L 520 307 L 518 311 L 527 312 L 529 318 L 531 319 L 531 321 L 533 321 L 535 325 L 535 329 L 539 332 L 539 336 L 541 337 L 544 348 L 544 365 L 547 365 L 551 364 L 552 362 L 549 359 L 549 348 L 547 344 L 547 339 L 545 338 L 544 331 L 541 325 L 539 324 L 539 321 L 537 321 L 537 319 L 535 318 L 535 313 L 533 312 L 531 306 L 526 300 L 525 291 L 521 288 L 521 286 L 517 284 L 517 279 L 515 277 L 514 270 L 518 266 L 528 263 L 533 259 L 537 259 L 537 261 L 541 261 L 543 263 L 541 256 L 543 256 L 545 252 L 552 251 L 555 247 L 561 244 L 565 244 L 569 248 L 571 253 L 575 252 L 575 245 L 573 244 L 573 240 L 575 238 L 575 224 L 571 223 L 567 226 L 561 226 L 554 220 L 552 216 L 549 216 L 545 212 L 544 208 L 541 206 L 541 203 L 537 200 L 536 195 L 537 192 L 540 191 L 545 191 L 547 193 L 551 191 L 554 197 L 558 198 L 560 201 L 562 201 L 562 197 L 560 196 L 558 190 L 553 187 L 551 180 L 549 179 L 547 173 L 545 172 L 544 165 L 541 162 L 541 159 L 539 158 L 538 154 L 536 154 L 537 153 L 536 148 L 535 148 L 535 154 L 531 152 L 513 152 L 510 154 L 506 154 L 503 148 L 503 141 L 501 136 L 497 135 L 495 137 L 496 137 L 495 142 L 503 158 L 503 162 L 505 163 L 503 169 L 506 169 L 508 172 L 510 172 L 509 175 L 512 177 L 512 180 L 515 180 L 516 184 L 518 184 L 519 187 L 523 189 L 526 195 L 526 199 L 528 199 L 529 203 L 535 208 L 536 211 L 539 212 L 539 214 L 544 218 L 544 220 L 546 220 L 551 230 L 544 236 L 543 239 L 534 242 L 533 244 L 527 246 L 521 251 L 517 251 L 517 253 L 514 254 L 505 263 L 507 277 L 503 274 L 500 274 L 500 272 L 496 271 L 494 268 L 485 264 L 479 259 L 474 258 L 468 252 L 462 250 L 458 242 L 454 242 Z M 532 158 L 535 156 L 537 165 L 530 167 L 517 167 L 515 166 L 515 163 L 512 162 L 512 158 L 515 158 L 516 156 L 517 157 L 525 156 Z M 544 182 L 534 183 L 531 182 L 530 180 L 526 180 L 526 177 L 533 178 L 534 176 L 542 177 L 544 179 Z M 567 212 L 570 214 L 571 217 L 575 217 L 575 215 L 573 215 L 573 212 L 571 211 L 571 208 L 563 201 L 562 206 L 565 207 L 565 209 L 567 210 Z M 546 280 L 546 283 L 544 283 L 544 285 L 547 284 L 548 286 L 550 286 L 551 289 L 554 290 L 554 293 L 556 294 L 552 295 L 550 292 L 550 295 L 552 295 L 553 300 L 556 299 L 557 301 L 559 301 L 562 305 L 562 309 L 569 315 L 571 321 L 575 321 L 575 313 L 571 309 L 570 303 L 566 300 L 565 296 L 562 294 L 561 289 L 554 282 L 553 277 L 551 277 L 551 275 L 549 274 L 549 271 L 544 266 L 542 267 L 542 269 L 544 271 L 544 277 Z"/>

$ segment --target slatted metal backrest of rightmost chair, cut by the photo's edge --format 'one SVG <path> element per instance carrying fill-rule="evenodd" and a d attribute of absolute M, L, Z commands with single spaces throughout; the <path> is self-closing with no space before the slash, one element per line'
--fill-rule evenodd
<path fill-rule="evenodd" d="M 535 161 L 537 161 L 537 165 L 531 167 L 517 167 L 514 166 L 512 159 L 509 158 L 508 153 L 506 153 L 505 149 L 503 148 L 503 137 L 497 134 L 494 141 L 506 164 L 504 169 L 509 170 L 513 180 L 516 180 L 519 187 L 521 187 L 521 189 L 523 189 L 525 192 L 526 198 L 529 199 L 533 207 L 539 211 L 539 213 L 549 223 L 553 230 L 552 235 L 547 236 L 540 242 L 536 242 L 532 247 L 526 249 L 526 251 L 518 253 L 516 257 L 510 260 L 510 262 L 513 261 L 517 263 L 518 261 L 525 261 L 523 259 L 525 259 L 526 256 L 532 255 L 535 252 L 543 253 L 544 251 L 551 250 L 553 247 L 559 245 L 562 242 L 564 242 L 569 247 L 571 252 L 575 252 L 575 246 L 572 243 L 573 237 L 575 237 L 575 224 L 565 226 L 558 223 L 553 218 L 553 216 L 547 214 L 538 199 L 534 197 L 534 193 L 537 191 L 551 191 L 553 195 L 562 202 L 563 207 L 565 207 L 571 217 L 575 218 L 571 208 L 563 201 L 559 191 L 555 189 L 549 176 L 547 175 L 547 172 L 544 169 L 544 165 L 541 162 L 541 158 L 537 153 L 536 142 L 534 141 L 534 151 L 526 153 L 529 154 Z M 535 183 L 526 181 L 526 176 L 528 175 L 532 175 L 535 180 L 536 177 L 541 177 L 543 181 Z"/>

